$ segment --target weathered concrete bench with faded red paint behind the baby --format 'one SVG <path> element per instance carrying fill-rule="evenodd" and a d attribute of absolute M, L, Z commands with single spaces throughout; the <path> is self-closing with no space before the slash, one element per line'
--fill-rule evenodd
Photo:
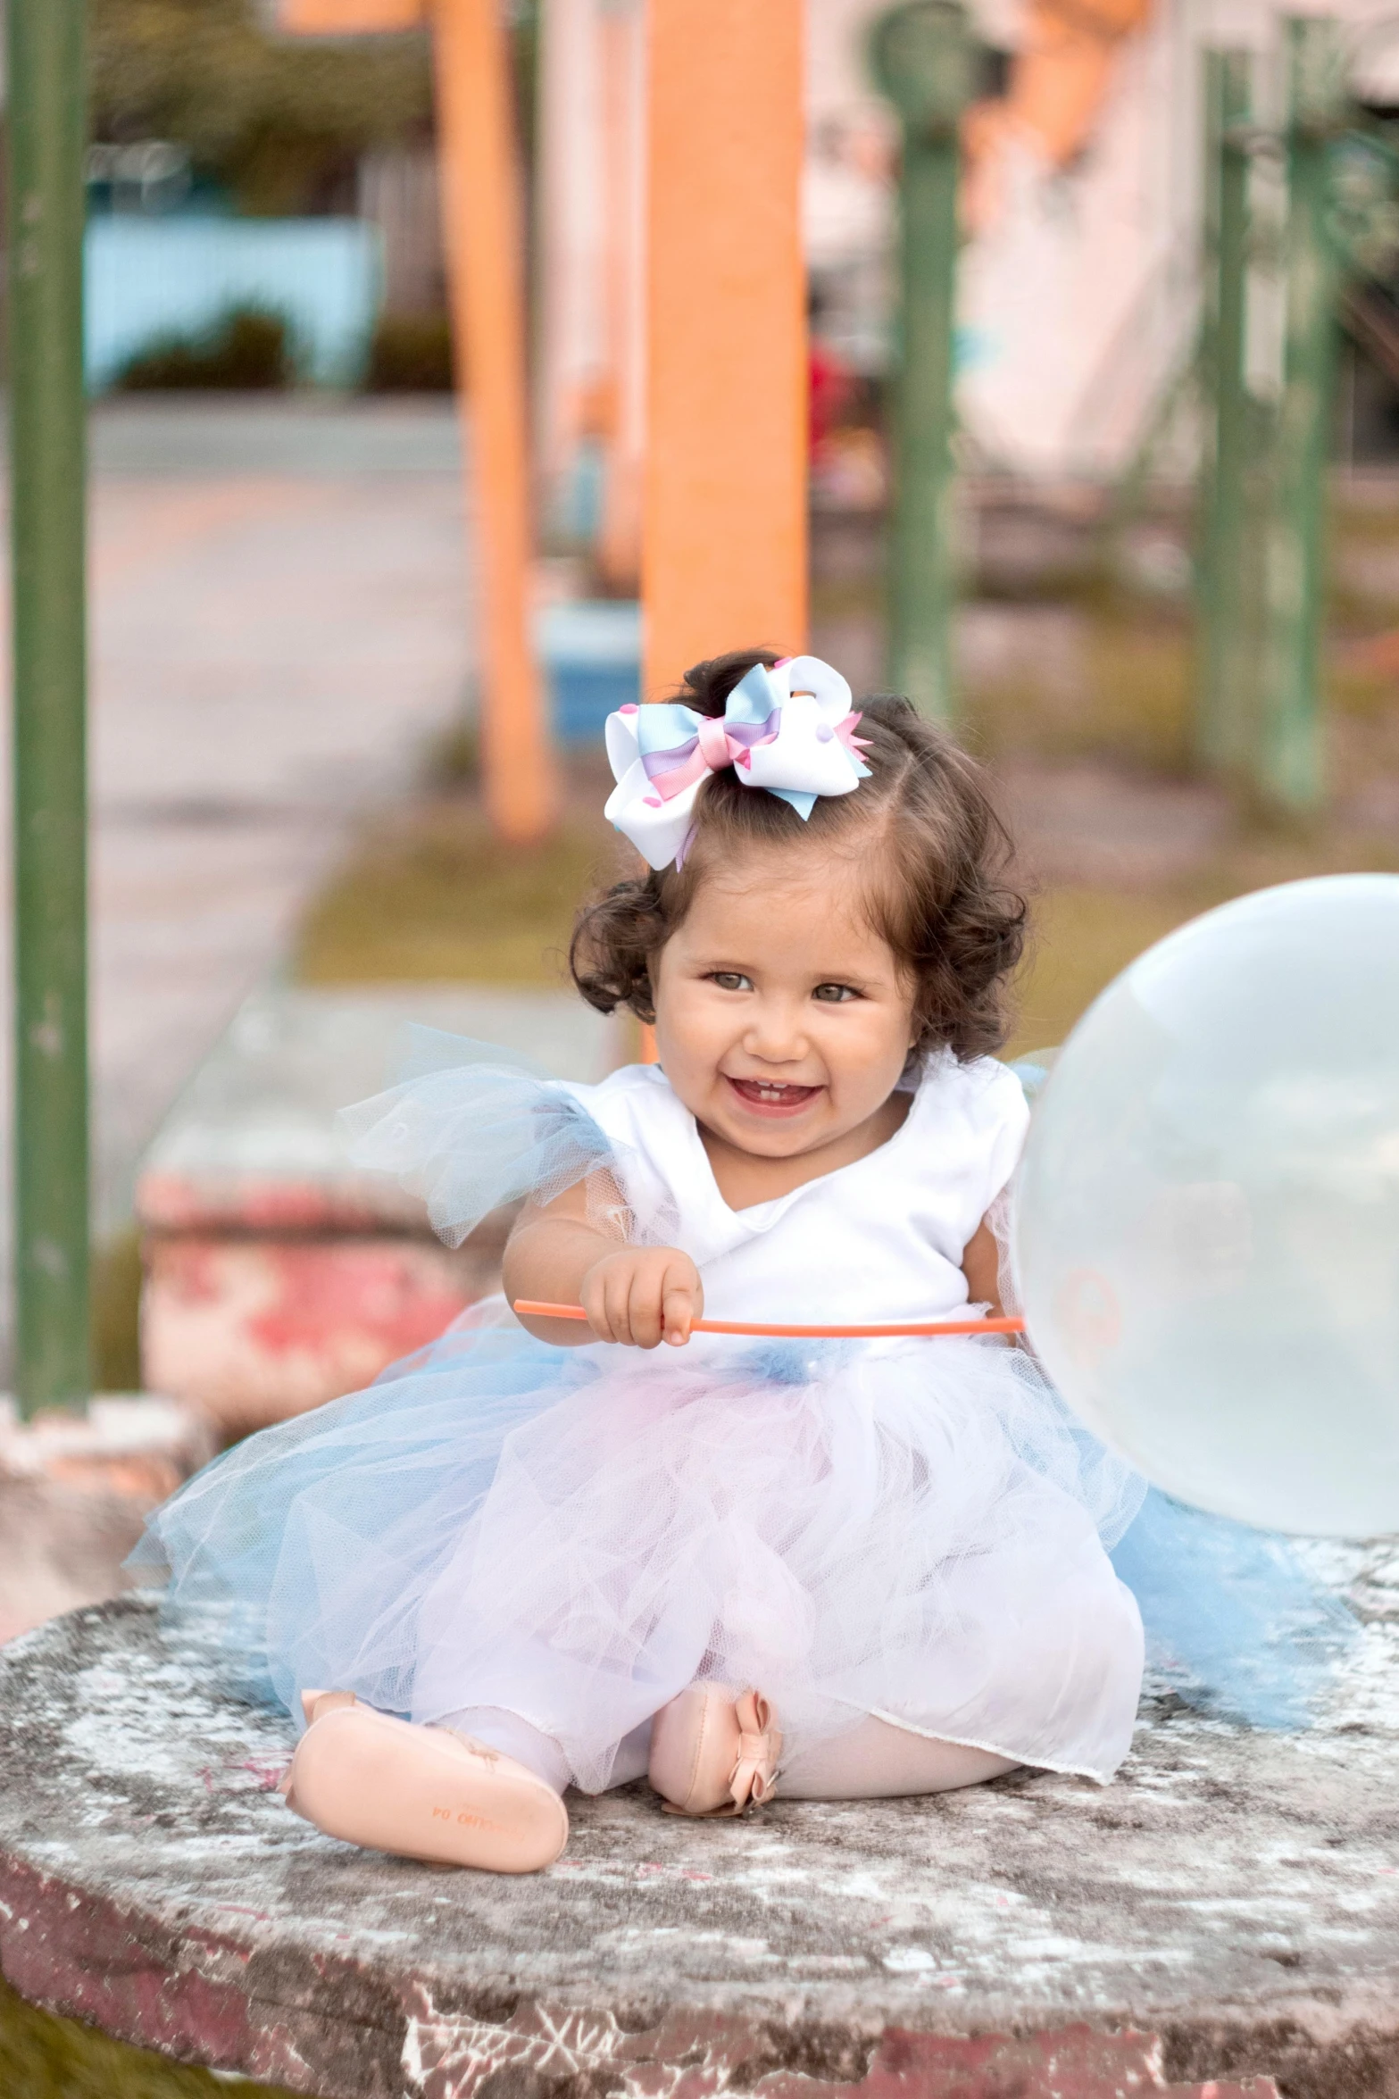
<path fill-rule="evenodd" d="M 411 1020 L 566 1079 L 623 1054 L 623 1029 L 564 991 L 254 993 L 136 1182 L 145 1381 L 227 1436 L 367 1385 L 499 1287 L 503 1217 L 443 1247 L 417 1196 L 350 1165 L 336 1125 L 390 1083 Z"/>

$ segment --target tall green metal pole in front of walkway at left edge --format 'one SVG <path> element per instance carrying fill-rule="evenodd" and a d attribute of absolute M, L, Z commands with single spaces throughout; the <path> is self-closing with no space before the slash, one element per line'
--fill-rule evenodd
<path fill-rule="evenodd" d="M 15 634 L 15 1392 L 82 1406 L 88 1343 L 84 0 L 8 0 Z"/>

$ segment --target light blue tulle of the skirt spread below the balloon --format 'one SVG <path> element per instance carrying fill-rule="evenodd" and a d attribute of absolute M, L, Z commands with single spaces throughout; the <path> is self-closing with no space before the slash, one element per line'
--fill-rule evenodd
<path fill-rule="evenodd" d="M 1187 1704 L 1250 1727 L 1305 1727 L 1359 1637 L 1290 1539 L 1152 1488 L 1112 1553 L 1147 1633 L 1147 1667 Z"/>

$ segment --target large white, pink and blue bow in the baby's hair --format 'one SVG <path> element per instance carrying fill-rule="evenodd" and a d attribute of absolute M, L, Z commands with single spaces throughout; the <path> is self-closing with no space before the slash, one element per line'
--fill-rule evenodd
<path fill-rule="evenodd" d="M 684 858 L 696 793 L 732 766 L 745 787 L 766 787 L 805 821 L 816 796 L 852 793 L 868 779 L 858 720 L 849 686 L 820 657 L 755 663 L 722 718 L 677 701 L 619 707 L 606 722 L 617 787 L 604 814 L 650 867 L 669 867 Z"/>

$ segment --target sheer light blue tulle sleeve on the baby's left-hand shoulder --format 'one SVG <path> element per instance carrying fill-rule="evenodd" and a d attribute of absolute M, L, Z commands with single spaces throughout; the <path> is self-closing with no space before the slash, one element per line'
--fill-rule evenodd
<path fill-rule="evenodd" d="M 438 1029 L 411 1031 L 403 1083 L 344 1108 L 340 1129 L 354 1165 L 394 1173 L 424 1199 L 449 1247 L 505 1203 L 550 1203 L 617 1167 L 612 1144 L 566 1087 Z"/>

